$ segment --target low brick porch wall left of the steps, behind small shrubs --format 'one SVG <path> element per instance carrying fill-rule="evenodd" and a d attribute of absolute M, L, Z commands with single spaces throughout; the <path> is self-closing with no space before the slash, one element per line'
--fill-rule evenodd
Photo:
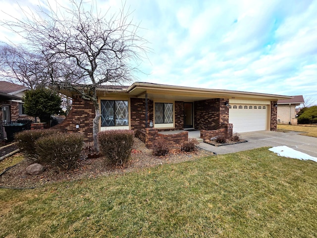
<path fill-rule="evenodd" d="M 188 132 L 182 131 L 177 134 L 160 134 L 156 128 L 146 128 L 145 130 L 137 130 L 135 136 L 145 143 L 147 147 L 151 147 L 159 138 L 164 138 L 170 145 L 182 144 L 188 141 Z"/>

